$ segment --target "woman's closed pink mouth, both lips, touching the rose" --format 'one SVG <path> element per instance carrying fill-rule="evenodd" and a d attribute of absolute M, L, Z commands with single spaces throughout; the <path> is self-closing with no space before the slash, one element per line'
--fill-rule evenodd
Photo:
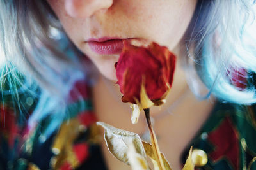
<path fill-rule="evenodd" d="M 89 41 L 87 41 L 87 43 L 93 52 L 100 55 L 111 55 L 121 53 L 124 47 L 124 41 L 127 41 L 129 39 L 132 38 L 91 38 L 89 39 Z"/>

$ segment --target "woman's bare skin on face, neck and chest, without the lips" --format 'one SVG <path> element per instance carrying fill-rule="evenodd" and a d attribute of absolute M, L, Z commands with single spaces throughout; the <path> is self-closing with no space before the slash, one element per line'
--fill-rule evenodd
<path fill-rule="evenodd" d="M 138 124 L 131 124 L 129 103 L 122 103 L 114 64 L 119 55 L 99 55 L 86 41 L 90 38 L 136 38 L 140 43 L 155 41 L 168 47 L 177 56 L 172 90 L 166 104 L 150 108 L 152 117 L 160 115 L 188 91 L 184 70 L 180 67 L 180 45 L 193 17 L 197 0 L 47 0 L 60 19 L 69 38 L 97 66 L 102 76 L 93 88 L 93 104 L 99 121 L 127 131 L 145 132 L 143 114 Z M 108 80 L 106 80 L 106 78 Z M 110 81 L 109 81 L 110 80 Z M 211 113 L 212 101 L 198 101 L 191 92 L 172 110 L 172 114 L 157 120 L 154 131 L 160 150 L 173 169 L 180 169 L 180 155 Z M 103 133 L 103 131 L 102 131 Z M 102 135 L 103 136 L 103 135 Z M 102 141 L 109 169 L 131 169 L 115 159 Z"/>

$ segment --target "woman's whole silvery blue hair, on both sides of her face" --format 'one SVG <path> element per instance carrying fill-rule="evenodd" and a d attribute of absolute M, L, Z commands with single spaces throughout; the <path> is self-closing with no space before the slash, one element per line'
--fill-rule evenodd
<path fill-rule="evenodd" d="M 256 102 L 256 45 L 255 39 L 246 32 L 254 3 L 250 0 L 198 0 L 183 43 L 184 51 L 188 52 L 184 63 L 189 86 L 199 99 L 213 93 L 218 99 L 232 103 Z M 52 118 L 58 122 L 52 121 L 54 128 L 58 127 L 65 117 L 68 91 L 75 81 L 86 76 L 81 67 L 77 69 L 79 52 L 46 1 L 1 0 L 0 27 L 0 46 L 4 52 L 1 57 L 5 57 L 1 101 L 4 101 L 3 94 L 10 94 L 19 104 L 19 92 L 28 90 L 36 95 L 35 91 L 40 89 L 38 106 L 29 122 L 35 124 L 51 112 L 62 113 L 63 119 L 60 115 Z M 246 74 L 240 74 L 241 70 Z M 239 83 L 246 84 L 246 88 L 236 86 L 232 79 L 234 74 L 242 77 Z M 4 89 L 6 80 L 11 84 L 8 89 Z M 209 90 L 207 94 L 200 94 L 200 81 Z"/>

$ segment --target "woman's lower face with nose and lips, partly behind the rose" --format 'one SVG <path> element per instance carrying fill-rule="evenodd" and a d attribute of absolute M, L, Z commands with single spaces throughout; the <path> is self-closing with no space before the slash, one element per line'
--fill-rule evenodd
<path fill-rule="evenodd" d="M 116 80 L 122 41 L 179 48 L 197 0 L 48 0 L 73 43 Z"/>

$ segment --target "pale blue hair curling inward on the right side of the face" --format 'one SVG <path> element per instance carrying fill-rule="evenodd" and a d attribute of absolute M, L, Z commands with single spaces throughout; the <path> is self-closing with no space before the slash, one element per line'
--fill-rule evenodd
<path fill-rule="evenodd" d="M 186 37 L 185 62 L 189 86 L 198 99 L 213 93 L 225 102 L 256 103 L 256 39 L 249 32 L 255 9 L 250 0 L 198 1 Z M 200 92 L 198 77 L 207 94 Z"/>

